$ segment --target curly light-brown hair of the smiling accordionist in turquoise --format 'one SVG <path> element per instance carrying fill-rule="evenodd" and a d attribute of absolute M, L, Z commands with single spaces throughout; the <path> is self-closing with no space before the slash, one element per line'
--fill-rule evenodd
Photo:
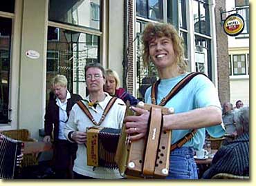
<path fill-rule="evenodd" d="M 167 23 L 148 23 L 146 25 L 142 38 L 144 65 L 148 66 L 152 62 L 149 56 L 149 42 L 160 37 L 168 37 L 172 40 L 176 63 L 181 70 L 185 71 L 188 64 L 184 61 L 183 39 L 179 36 L 176 28 Z"/>

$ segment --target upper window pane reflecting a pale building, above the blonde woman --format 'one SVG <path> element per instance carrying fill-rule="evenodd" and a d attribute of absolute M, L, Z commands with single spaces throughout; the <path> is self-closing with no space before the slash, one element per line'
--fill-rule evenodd
<path fill-rule="evenodd" d="M 100 30 L 100 0 L 50 0 L 49 20 Z"/>

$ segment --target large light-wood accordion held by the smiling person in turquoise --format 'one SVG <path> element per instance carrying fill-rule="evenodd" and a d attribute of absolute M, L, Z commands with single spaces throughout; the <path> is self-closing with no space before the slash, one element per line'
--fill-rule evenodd
<path fill-rule="evenodd" d="M 116 152 L 120 174 L 138 178 L 165 178 L 169 173 L 171 131 L 161 130 L 162 114 L 174 114 L 174 109 L 143 102 L 137 106 L 151 112 L 147 138 L 129 142 L 123 125 Z M 128 109 L 127 115 L 134 113 Z"/>

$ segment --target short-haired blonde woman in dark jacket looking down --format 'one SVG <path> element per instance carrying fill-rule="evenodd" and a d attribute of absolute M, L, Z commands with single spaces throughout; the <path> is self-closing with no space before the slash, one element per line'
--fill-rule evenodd
<path fill-rule="evenodd" d="M 55 99 L 51 99 L 46 107 L 44 116 L 44 142 L 51 141 L 53 132 L 54 161 L 53 168 L 56 178 L 72 178 L 71 167 L 75 159 L 77 144 L 70 143 L 64 136 L 64 126 L 68 121 L 69 112 L 73 105 L 82 99 L 78 94 L 67 90 L 66 76 L 57 75 L 53 78 L 52 87 Z"/>

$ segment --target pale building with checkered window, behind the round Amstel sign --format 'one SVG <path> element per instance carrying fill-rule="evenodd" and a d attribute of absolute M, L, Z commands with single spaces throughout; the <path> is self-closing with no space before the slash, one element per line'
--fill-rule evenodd
<path fill-rule="evenodd" d="M 229 75 L 230 75 L 230 103 L 235 106 L 236 101 L 250 103 L 250 20 L 249 1 L 228 1 L 226 15 L 239 14 L 244 19 L 244 30 L 241 34 L 228 36 Z"/>

